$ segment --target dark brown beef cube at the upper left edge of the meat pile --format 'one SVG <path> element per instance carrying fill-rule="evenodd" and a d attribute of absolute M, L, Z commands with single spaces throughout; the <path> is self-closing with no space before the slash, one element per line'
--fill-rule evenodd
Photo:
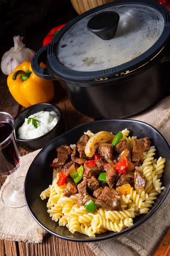
<path fill-rule="evenodd" d="M 61 145 L 59 148 L 57 148 L 57 157 L 59 165 L 65 165 L 66 161 L 68 160 L 72 152 L 73 150 L 71 149 L 71 147 L 67 145 Z"/>

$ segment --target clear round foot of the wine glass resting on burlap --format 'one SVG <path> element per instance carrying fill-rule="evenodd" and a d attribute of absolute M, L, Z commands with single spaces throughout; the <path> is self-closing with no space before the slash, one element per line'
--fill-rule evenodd
<path fill-rule="evenodd" d="M 1 198 L 3 203 L 12 208 L 20 208 L 26 206 L 24 198 L 24 181 L 25 177 L 18 177 L 17 180 L 20 182 L 20 186 L 14 190 L 12 183 L 8 183 L 2 191 Z"/>

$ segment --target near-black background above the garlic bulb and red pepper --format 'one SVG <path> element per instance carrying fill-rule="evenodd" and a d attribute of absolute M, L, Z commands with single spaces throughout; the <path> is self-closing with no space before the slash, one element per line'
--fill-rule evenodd
<path fill-rule="evenodd" d="M 51 28 L 78 15 L 70 0 L 0 0 L 0 13 L 0 60 L 14 35 L 36 52 Z"/>

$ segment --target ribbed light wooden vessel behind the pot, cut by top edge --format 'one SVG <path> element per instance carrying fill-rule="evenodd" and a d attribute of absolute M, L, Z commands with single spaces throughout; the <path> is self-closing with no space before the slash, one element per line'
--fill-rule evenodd
<path fill-rule="evenodd" d="M 114 0 L 71 0 L 71 3 L 78 14 L 111 2 L 114 2 Z"/>

